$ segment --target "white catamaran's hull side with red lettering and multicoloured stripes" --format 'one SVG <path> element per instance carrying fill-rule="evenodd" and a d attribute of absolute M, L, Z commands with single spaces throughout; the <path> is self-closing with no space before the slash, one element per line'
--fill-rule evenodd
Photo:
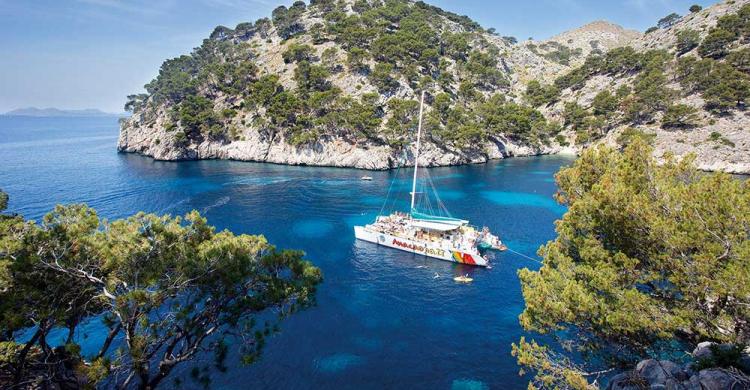
<path fill-rule="evenodd" d="M 487 260 L 479 252 L 461 250 L 458 248 L 446 248 L 435 242 L 416 241 L 408 238 L 397 237 L 388 233 L 376 232 L 367 229 L 364 226 L 355 226 L 354 236 L 359 240 L 435 259 L 480 267 L 486 267 L 488 265 Z"/>

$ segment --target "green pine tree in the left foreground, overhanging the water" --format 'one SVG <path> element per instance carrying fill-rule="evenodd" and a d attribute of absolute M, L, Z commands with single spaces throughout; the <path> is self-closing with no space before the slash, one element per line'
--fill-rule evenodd
<path fill-rule="evenodd" d="M 320 280 L 301 252 L 216 232 L 195 211 L 108 222 L 75 205 L 38 224 L 2 216 L 0 387 L 153 389 L 196 357 L 214 354 L 226 370 L 230 343 L 252 363 L 277 321 L 314 303 Z M 84 356 L 76 341 L 99 321 L 105 337 Z M 56 329 L 67 335 L 59 346 Z M 194 371 L 207 383 L 207 371 Z"/>

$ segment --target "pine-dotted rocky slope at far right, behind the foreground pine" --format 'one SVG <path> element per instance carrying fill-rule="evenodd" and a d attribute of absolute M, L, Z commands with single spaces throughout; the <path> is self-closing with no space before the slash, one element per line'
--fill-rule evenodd
<path fill-rule="evenodd" d="M 713 149 L 735 148 L 725 134 L 730 129 L 717 123 L 745 124 L 750 5 L 731 11 L 712 27 L 701 24 L 702 30 L 693 29 L 696 19 L 705 22 L 710 10 L 696 11 L 684 21 L 669 16 L 665 19 L 672 24 L 666 28 L 673 37 L 666 37 L 673 42 L 642 50 L 624 46 L 589 56 L 551 83 L 530 82 L 526 101 L 556 110 L 577 144 L 591 143 L 616 129 L 620 136 L 641 128 L 688 138 L 694 129 L 712 128 L 706 141 Z M 740 137 L 743 147 L 745 138 Z"/>

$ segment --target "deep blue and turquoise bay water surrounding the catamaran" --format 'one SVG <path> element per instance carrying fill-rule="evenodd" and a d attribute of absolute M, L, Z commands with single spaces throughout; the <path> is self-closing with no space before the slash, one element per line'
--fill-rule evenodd
<path fill-rule="evenodd" d="M 57 203 L 85 202 L 107 218 L 196 209 L 221 229 L 303 249 L 324 271 L 318 306 L 287 320 L 259 363 L 213 375 L 213 388 L 526 388 L 510 355 L 523 334 L 516 271 L 537 264 L 506 252 L 493 269 L 474 269 L 355 241 L 352 226 L 375 217 L 396 172 L 362 182 L 364 173 L 350 169 L 156 162 L 116 153 L 116 139 L 109 118 L 0 117 L 0 188 L 10 210 L 38 219 Z M 551 198 L 552 175 L 571 161 L 518 158 L 430 173 L 455 216 L 534 256 L 564 212 Z M 394 185 L 403 205 L 409 172 Z M 465 273 L 474 283 L 453 282 Z M 89 329 L 84 347 L 101 336 Z"/>

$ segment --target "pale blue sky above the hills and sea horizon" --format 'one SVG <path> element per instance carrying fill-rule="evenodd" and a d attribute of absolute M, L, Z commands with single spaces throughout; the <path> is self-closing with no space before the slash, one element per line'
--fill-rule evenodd
<path fill-rule="evenodd" d="M 217 25 L 270 16 L 292 0 L 0 0 L 0 112 L 22 107 L 122 112 L 167 59 Z M 427 0 L 519 40 L 594 20 L 644 31 L 703 0 Z"/>

